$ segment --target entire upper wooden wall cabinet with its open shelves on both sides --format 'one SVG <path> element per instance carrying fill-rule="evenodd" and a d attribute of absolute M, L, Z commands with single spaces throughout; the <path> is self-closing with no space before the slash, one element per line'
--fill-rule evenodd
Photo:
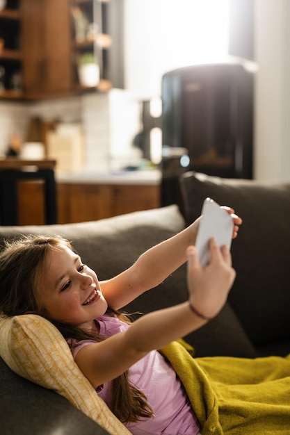
<path fill-rule="evenodd" d="M 122 4 L 123 0 L 7 0 L 0 11 L 0 99 L 122 88 Z M 81 37 L 76 17 L 83 18 Z M 86 53 L 99 61 L 96 87 L 79 84 L 77 63 Z"/>

